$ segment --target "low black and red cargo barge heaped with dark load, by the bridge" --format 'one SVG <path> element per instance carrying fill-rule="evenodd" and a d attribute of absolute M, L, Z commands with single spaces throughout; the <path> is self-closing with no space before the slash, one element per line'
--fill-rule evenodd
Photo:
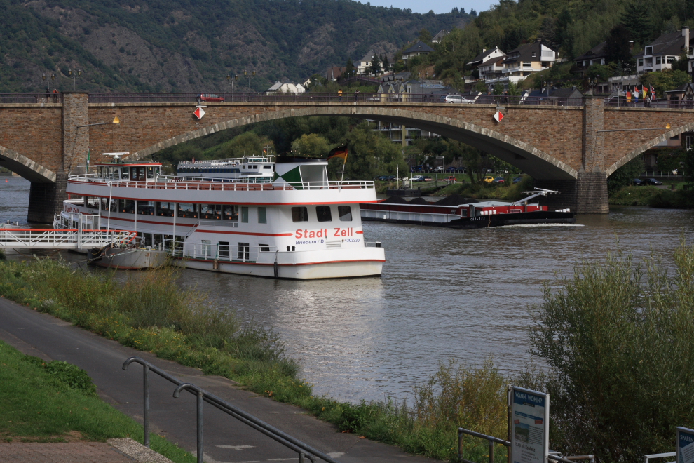
<path fill-rule="evenodd" d="M 576 215 L 569 209 L 548 210 L 547 206 L 529 203 L 531 199 L 538 196 L 559 192 L 538 188 L 524 193 L 530 196 L 512 203 L 477 201 L 457 195 L 441 199 L 436 203 L 428 203 L 421 198 L 407 201 L 394 196 L 379 203 L 363 203 L 361 214 L 362 220 L 458 229 L 576 222 Z"/>

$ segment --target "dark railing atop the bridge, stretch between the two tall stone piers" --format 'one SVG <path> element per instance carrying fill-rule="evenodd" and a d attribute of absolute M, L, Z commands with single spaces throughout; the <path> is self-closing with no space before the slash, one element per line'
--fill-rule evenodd
<path fill-rule="evenodd" d="M 224 102 L 383 102 L 383 103 L 443 103 L 446 95 L 429 93 L 216 93 Z M 90 93 L 90 103 L 200 103 L 200 93 Z M 582 106 L 583 98 L 511 95 L 463 95 L 478 105 L 540 105 Z M 219 100 L 217 101 L 219 102 Z"/>

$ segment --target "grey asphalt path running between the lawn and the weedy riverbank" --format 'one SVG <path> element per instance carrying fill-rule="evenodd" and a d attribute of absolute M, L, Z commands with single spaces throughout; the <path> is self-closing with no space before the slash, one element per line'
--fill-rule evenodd
<path fill-rule="evenodd" d="M 236 389 L 233 382 L 226 378 L 205 376 L 195 368 L 123 347 L 115 341 L 4 298 L 0 298 L 0 339 L 25 354 L 78 365 L 93 378 L 105 401 L 139 422 L 142 422 L 142 368 L 132 364 L 128 371 L 121 369 L 125 358 L 130 356 L 142 357 L 182 381 L 207 389 L 343 463 L 433 462 L 424 457 L 408 455 L 390 445 L 360 439 L 353 434 L 342 434 L 332 424 L 306 415 L 301 408 Z M 195 455 L 195 397 L 182 394 L 180 398 L 172 398 L 173 384 L 158 375 L 150 377 L 152 431 Z M 207 463 L 298 460 L 296 453 L 210 405 L 205 405 L 204 416 Z"/>

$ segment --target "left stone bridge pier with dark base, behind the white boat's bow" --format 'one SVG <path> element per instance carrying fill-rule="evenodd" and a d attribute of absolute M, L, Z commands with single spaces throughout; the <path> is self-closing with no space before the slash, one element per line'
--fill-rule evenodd
<path fill-rule="evenodd" d="M 53 215 L 62 210 L 62 201 L 67 199 L 67 175 L 76 168 L 79 160 L 86 159 L 89 145 L 89 130 L 80 126 L 89 123 L 89 95 L 84 92 L 62 94 L 62 159 L 57 170 L 55 183 L 32 182 L 29 189 L 29 211 L 27 221 L 33 223 L 53 222 Z"/>

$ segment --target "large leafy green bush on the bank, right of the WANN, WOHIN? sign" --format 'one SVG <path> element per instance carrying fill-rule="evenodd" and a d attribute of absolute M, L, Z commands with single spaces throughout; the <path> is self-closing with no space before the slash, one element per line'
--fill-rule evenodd
<path fill-rule="evenodd" d="M 694 424 L 694 246 L 682 240 L 674 269 L 618 250 L 545 284 L 531 342 L 550 367 L 538 388 L 552 395 L 552 448 L 634 462 Z"/>

